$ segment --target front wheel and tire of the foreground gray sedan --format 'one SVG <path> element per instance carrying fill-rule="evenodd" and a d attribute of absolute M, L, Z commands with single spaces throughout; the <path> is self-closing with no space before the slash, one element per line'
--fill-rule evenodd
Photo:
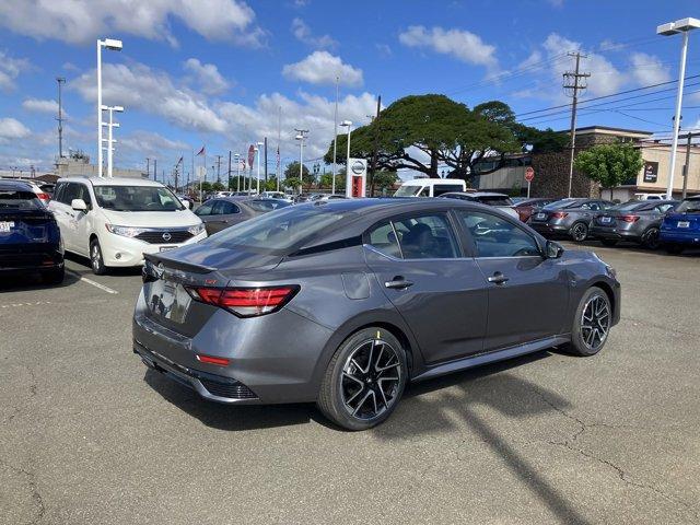
<path fill-rule="evenodd" d="M 605 346 L 612 323 L 610 298 L 598 287 L 591 287 L 581 298 L 574 314 L 571 343 L 574 355 L 595 355 Z"/>

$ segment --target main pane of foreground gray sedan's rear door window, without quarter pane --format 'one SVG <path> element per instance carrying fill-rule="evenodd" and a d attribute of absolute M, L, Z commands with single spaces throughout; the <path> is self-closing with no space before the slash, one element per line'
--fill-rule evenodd
<path fill-rule="evenodd" d="M 393 223 L 405 259 L 458 257 L 455 235 L 446 215 L 416 215 Z"/>

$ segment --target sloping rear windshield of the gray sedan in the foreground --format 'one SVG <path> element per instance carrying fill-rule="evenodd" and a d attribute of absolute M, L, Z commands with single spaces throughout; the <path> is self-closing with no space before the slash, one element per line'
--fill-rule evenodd
<path fill-rule="evenodd" d="M 200 243 L 214 248 L 283 254 L 351 214 L 328 211 L 326 206 L 291 206 L 228 228 Z"/>

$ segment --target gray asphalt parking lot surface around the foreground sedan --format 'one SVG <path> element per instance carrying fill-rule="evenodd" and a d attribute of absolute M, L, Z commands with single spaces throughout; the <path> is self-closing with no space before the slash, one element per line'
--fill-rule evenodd
<path fill-rule="evenodd" d="M 138 271 L 72 259 L 61 287 L 5 282 L 0 522 L 700 523 L 698 253 L 582 249 L 623 285 L 599 355 L 422 383 L 363 433 L 312 405 L 206 402 L 147 371 Z"/>

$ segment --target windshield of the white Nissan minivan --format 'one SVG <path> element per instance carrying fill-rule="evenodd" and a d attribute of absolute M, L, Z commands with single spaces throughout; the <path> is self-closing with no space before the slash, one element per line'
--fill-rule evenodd
<path fill-rule="evenodd" d="M 185 207 L 163 186 L 94 186 L 97 205 L 114 211 L 176 211 Z"/>

